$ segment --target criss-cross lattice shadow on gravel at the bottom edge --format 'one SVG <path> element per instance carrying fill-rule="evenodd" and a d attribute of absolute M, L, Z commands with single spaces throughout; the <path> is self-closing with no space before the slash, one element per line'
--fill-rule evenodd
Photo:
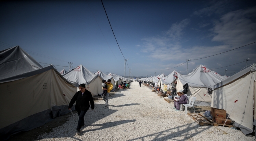
<path fill-rule="evenodd" d="M 164 130 L 164 131 L 161 131 L 161 132 L 156 132 L 154 134 L 150 134 L 150 135 L 147 135 L 147 136 L 142 136 L 142 137 L 137 137 L 137 138 L 134 138 L 134 139 L 130 139 L 128 141 L 135 141 L 135 140 L 145 141 L 145 140 L 148 140 L 147 137 L 150 137 L 150 136 L 154 136 L 154 139 L 152 139 L 152 141 L 153 140 L 165 141 L 167 139 L 173 139 L 175 137 L 178 137 L 178 139 L 173 139 L 173 140 L 186 141 L 186 140 L 189 140 L 191 137 L 197 136 L 197 134 L 199 134 L 203 130 L 211 128 L 212 126 L 208 126 L 208 127 L 205 126 L 206 128 L 198 128 L 198 127 L 199 127 L 199 125 L 197 125 L 195 123 L 194 124 L 193 123 L 188 123 L 186 125 L 170 128 L 168 130 Z M 191 131 L 194 131 L 194 133 L 189 133 Z"/>

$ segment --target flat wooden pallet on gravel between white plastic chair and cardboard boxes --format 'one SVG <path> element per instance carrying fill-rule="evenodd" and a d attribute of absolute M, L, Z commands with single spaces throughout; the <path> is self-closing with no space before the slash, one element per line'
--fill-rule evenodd
<path fill-rule="evenodd" d="M 198 125 L 213 125 L 213 126 L 223 126 L 223 124 L 218 124 L 212 121 L 211 119 L 204 116 L 204 114 L 200 113 L 187 113 Z M 233 125 L 224 125 L 224 127 L 233 127 Z"/>

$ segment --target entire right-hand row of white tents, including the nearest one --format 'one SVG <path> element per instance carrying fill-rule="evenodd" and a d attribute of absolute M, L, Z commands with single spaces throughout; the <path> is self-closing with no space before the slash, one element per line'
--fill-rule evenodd
<path fill-rule="evenodd" d="M 187 75 L 173 71 L 168 76 L 161 74 L 140 80 L 156 83 L 161 89 L 164 85 L 171 89 L 171 84 L 177 81 L 177 92 L 184 90 L 183 85 L 187 83 L 187 95 L 197 98 L 196 105 L 226 110 L 229 118 L 235 121 L 234 126 L 244 134 L 252 133 L 256 126 L 256 64 L 231 77 L 221 76 L 199 65 Z"/>

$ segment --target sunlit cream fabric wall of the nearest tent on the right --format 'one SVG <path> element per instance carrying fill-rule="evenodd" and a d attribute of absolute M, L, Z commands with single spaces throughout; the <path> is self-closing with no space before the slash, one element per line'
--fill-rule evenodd
<path fill-rule="evenodd" d="M 230 115 L 230 119 L 237 123 L 237 127 L 244 126 L 248 128 L 246 130 L 251 132 L 253 130 L 254 117 L 255 78 L 256 72 L 247 73 L 238 80 L 213 90 L 211 102 L 211 107 L 226 110 Z M 236 100 L 237 102 L 234 103 Z"/>

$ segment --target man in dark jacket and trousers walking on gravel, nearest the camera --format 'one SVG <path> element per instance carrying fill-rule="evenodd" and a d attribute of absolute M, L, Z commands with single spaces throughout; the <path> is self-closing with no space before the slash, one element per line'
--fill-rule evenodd
<path fill-rule="evenodd" d="M 76 128 L 76 134 L 80 134 L 80 128 L 84 126 L 84 115 L 89 110 L 90 103 L 91 103 L 91 109 L 94 109 L 94 102 L 93 102 L 93 96 L 91 95 L 91 92 L 85 89 L 85 84 L 79 85 L 79 90 L 76 92 L 76 94 L 73 96 L 69 103 L 69 110 L 72 108 L 73 104 L 76 102 L 75 108 L 78 113 L 79 119 L 78 124 Z"/>

